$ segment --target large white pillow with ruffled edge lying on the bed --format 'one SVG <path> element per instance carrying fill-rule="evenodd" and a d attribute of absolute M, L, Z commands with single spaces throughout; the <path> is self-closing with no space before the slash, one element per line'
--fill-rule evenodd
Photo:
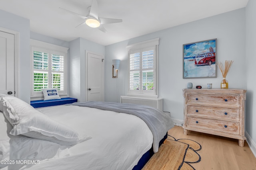
<path fill-rule="evenodd" d="M 76 131 L 50 119 L 50 117 L 16 97 L 4 96 L 2 102 L 4 115 L 13 126 L 10 131 L 11 135 L 24 135 L 66 146 L 91 139 L 86 137 L 80 140 Z"/>

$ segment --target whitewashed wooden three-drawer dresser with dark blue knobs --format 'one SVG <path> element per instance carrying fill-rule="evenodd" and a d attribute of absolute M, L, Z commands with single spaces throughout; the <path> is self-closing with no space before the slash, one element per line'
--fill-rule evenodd
<path fill-rule="evenodd" d="M 184 134 L 188 130 L 238 139 L 244 146 L 244 102 L 242 89 L 183 89 Z"/>

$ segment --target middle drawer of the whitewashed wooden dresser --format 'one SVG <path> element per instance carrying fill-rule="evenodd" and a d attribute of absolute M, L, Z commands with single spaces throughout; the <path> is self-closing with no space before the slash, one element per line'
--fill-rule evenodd
<path fill-rule="evenodd" d="M 200 105 L 188 105 L 187 115 L 209 117 L 220 120 L 239 121 L 239 109 L 227 107 L 209 107 Z"/>

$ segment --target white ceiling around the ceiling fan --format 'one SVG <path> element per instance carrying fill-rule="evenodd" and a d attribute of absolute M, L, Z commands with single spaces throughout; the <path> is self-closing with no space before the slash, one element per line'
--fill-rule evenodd
<path fill-rule="evenodd" d="M 30 31 L 64 41 L 78 37 L 110 45 L 140 35 L 246 6 L 248 0 L 98 0 L 99 17 L 122 19 L 104 25 L 107 33 L 81 25 L 92 0 L 0 0 L 0 9 L 30 20 Z"/>

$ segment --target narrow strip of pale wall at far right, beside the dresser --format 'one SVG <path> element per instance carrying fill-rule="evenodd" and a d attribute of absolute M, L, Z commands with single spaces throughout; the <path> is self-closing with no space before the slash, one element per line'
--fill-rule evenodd
<path fill-rule="evenodd" d="M 256 1 L 249 0 L 246 6 L 246 137 L 254 155 L 256 155 L 256 92 L 255 91 L 255 47 L 256 47 Z"/>

